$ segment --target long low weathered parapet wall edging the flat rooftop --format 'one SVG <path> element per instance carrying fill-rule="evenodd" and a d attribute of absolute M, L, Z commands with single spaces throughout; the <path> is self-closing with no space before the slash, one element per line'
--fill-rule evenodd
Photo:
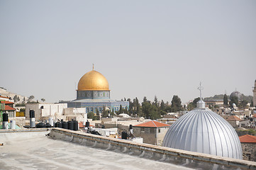
<path fill-rule="evenodd" d="M 161 162 L 200 169 L 256 169 L 256 162 L 249 162 L 211 154 L 189 152 L 181 149 L 139 144 L 128 140 L 86 134 L 61 128 L 53 128 L 49 136 L 56 140 L 66 140 L 80 145 L 99 147 L 114 152 L 135 155 Z"/>

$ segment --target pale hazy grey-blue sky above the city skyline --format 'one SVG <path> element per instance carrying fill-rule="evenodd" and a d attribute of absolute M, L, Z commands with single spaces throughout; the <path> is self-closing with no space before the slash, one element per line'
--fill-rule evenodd
<path fill-rule="evenodd" d="M 73 100 L 101 72 L 112 99 L 252 95 L 256 1 L 0 1 L 0 86 Z"/>

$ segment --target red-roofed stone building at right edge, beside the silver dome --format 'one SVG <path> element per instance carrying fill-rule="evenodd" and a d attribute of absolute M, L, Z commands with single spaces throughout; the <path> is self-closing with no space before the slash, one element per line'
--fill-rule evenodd
<path fill-rule="evenodd" d="M 239 137 L 242 145 L 243 155 L 245 155 L 249 161 L 256 162 L 256 137 L 252 135 L 243 135 Z"/>

